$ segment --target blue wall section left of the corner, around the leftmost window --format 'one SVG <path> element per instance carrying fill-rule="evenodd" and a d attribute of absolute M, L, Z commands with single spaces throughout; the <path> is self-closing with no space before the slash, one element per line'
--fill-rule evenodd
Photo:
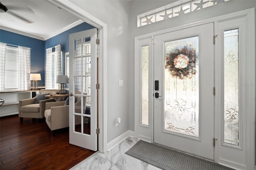
<path fill-rule="evenodd" d="M 30 72 L 40 73 L 42 80 L 38 81 L 38 86 L 44 86 L 44 41 L 0 30 L 0 42 L 30 47 Z"/>

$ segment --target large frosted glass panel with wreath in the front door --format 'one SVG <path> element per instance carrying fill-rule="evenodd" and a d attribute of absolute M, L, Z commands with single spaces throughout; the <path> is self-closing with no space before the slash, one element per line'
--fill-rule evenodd
<path fill-rule="evenodd" d="M 198 36 L 164 43 L 164 130 L 198 137 Z"/>

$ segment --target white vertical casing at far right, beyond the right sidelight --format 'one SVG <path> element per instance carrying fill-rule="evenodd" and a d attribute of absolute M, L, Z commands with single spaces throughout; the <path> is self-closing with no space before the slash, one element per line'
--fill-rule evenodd
<path fill-rule="evenodd" d="M 249 58 L 246 64 L 246 82 L 252 85 L 246 88 L 246 99 L 249 99 L 246 101 L 246 113 L 254 113 L 253 117 L 246 116 L 246 165 L 248 169 L 252 169 L 255 165 L 255 8 L 251 8 L 246 16 L 246 53 Z"/>

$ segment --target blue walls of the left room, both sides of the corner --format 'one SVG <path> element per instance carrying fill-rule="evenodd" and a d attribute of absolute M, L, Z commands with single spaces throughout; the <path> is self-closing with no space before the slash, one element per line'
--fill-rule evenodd
<path fill-rule="evenodd" d="M 87 23 L 82 23 L 70 30 L 67 30 L 57 36 L 54 36 L 46 41 L 38 40 L 35 38 L 30 38 L 27 36 L 22 36 L 13 32 L 8 32 L 5 30 L 0 30 L 0 42 L 8 43 L 12 45 L 20 45 L 24 47 L 30 47 L 30 72 L 40 73 L 41 81 L 38 81 L 38 86 L 45 86 L 45 63 L 46 63 L 46 49 L 54 47 L 58 44 L 62 45 L 62 74 L 65 73 L 65 53 L 69 51 L 69 34 L 80 32 L 84 30 L 89 30 L 95 28 Z"/>

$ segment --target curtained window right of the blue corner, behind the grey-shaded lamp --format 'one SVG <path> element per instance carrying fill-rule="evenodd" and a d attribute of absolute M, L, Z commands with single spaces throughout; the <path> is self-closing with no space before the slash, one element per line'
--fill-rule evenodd
<path fill-rule="evenodd" d="M 56 77 L 57 75 L 61 75 L 61 55 L 60 44 L 46 49 L 46 89 L 59 89 L 59 84 L 56 83 Z"/>

